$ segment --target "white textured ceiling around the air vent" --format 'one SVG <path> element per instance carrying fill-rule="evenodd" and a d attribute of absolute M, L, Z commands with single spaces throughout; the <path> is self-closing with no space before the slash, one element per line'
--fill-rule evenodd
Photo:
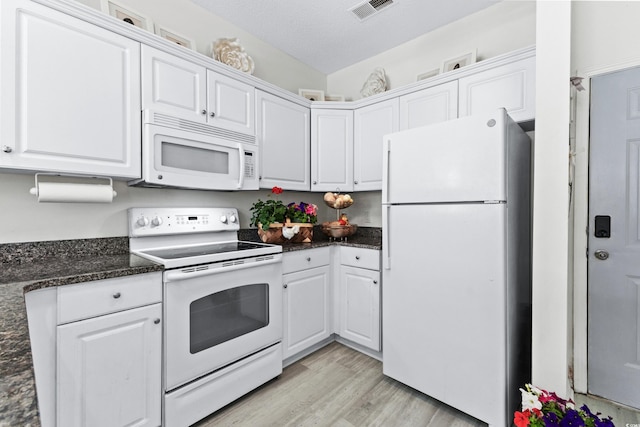
<path fill-rule="evenodd" d="M 500 0 L 394 0 L 360 21 L 362 0 L 192 0 L 323 73 L 332 73 Z"/>

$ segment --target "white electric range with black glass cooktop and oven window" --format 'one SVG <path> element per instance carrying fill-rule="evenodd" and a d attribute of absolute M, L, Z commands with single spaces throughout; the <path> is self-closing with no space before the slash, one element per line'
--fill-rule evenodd
<path fill-rule="evenodd" d="M 189 426 L 282 373 L 282 247 L 238 241 L 233 208 L 129 209 L 163 264 L 164 423 Z"/>

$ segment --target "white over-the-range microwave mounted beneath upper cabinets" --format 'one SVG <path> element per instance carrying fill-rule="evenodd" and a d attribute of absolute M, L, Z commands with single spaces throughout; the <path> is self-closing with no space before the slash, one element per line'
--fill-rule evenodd
<path fill-rule="evenodd" d="M 257 190 L 258 147 L 249 135 L 152 110 L 142 114 L 137 187 Z"/>

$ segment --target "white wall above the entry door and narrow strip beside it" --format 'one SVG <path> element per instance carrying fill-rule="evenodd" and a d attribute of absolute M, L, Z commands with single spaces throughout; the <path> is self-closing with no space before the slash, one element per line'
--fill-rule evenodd
<path fill-rule="evenodd" d="M 588 225 L 589 78 L 632 66 L 640 66 L 640 2 L 580 1 L 572 7 L 572 75 L 585 77 L 583 92 L 575 94 L 574 181 L 574 384 L 587 390 L 587 236 Z"/>

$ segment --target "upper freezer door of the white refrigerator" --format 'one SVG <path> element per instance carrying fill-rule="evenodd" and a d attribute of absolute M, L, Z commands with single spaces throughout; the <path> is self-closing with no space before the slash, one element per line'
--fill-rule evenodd
<path fill-rule="evenodd" d="M 389 134 L 382 203 L 506 200 L 504 109 Z"/>

